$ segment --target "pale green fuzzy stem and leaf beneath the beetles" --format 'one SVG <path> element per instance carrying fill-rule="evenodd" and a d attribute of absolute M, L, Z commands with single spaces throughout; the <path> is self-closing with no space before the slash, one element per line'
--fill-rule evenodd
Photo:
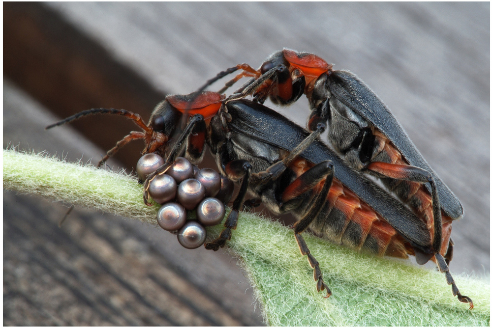
<path fill-rule="evenodd" d="M 3 188 L 155 223 L 158 206 L 146 206 L 134 177 L 69 164 L 43 155 L 3 150 Z M 221 226 L 208 229 L 215 238 Z M 312 269 L 293 231 L 241 213 L 228 246 L 242 264 L 265 319 L 273 326 L 489 326 L 490 283 L 455 275 L 463 295 L 451 293 L 443 273 L 405 261 L 354 252 L 304 234 L 333 295 L 316 292 Z"/>

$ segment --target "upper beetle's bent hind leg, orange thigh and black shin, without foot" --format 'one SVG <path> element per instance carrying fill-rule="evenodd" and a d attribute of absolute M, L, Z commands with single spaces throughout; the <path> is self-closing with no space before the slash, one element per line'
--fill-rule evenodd
<path fill-rule="evenodd" d="M 432 214 L 434 217 L 434 238 L 432 240 L 432 248 L 435 253 L 439 253 L 442 235 L 441 205 L 431 173 L 417 166 L 384 162 L 372 162 L 366 166 L 366 169 L 383 177 L 420 183 L 428 182 L 431 185 Z"/>

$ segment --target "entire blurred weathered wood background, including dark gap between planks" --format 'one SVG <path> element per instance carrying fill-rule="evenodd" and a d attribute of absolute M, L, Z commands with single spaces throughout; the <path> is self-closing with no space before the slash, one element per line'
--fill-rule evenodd
<path fill-rule="evenodd" d="M 130 122 L 44 127 L 93 107 L 147 119 L 167 93 L 189 93 L 237 63 L 259 66 L 284 47 L 351 70 L 385 101 L 463 203 L 452 272 L 489 274 L 486 2 L 4 3 L 3 147 L 95 163 Z M 305 100 L 281 110 L 305 124 Z M 141 148 L 111 165 L 131 170 Z M 226 252 L 186 250 L 154 226 L 79 208 L 58 228 L 65 211 L 3 193 L 4 325 L 262 323 Z"/>

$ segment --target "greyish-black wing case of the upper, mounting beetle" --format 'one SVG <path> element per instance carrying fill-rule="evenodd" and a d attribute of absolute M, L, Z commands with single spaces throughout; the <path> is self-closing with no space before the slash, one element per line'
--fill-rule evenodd
<path fill-rule="evenodd" d="M 400 123 L 376 94 L 356 75 L 347 71 L 333 71 L 327 83 L 329 83 L 328 87 L 332 92 L 332 97 L 336 97 L 344 105 L 371 122 L 381 133 L 388 137 L 410 165 L 418 166 L 431 172 L 439 192 L 439 200 L 443 210 L 454 219 L 461 218 L 463 208 L 460 200 L 431 169 L 431 166 L 429 166 L 412 140 L 407 136 Z M 426 187 L 431 192 L 431 187 L 428 183 Z"/>

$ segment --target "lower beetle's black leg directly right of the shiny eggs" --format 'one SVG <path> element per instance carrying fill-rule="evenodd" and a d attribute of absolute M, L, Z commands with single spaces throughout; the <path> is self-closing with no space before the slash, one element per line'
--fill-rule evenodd
<path fill-rule="evenodd" d="M 243 200 L 246 196 L 247 187 L 249 184 L 249 176 L 251 173 L 251 164 L 245 160 L 235 160 L 225 165 L 225 173 L 227 176 L 234 176 L 235 178 L 243 177 L 241 188 L 238 196 L 232 203 L 232 209 L 227 219 L 225 220 L 225 228 L 220 235 L 211 243 L 206 243 L 205 248 L 217 250 L 219 247 L 225 246 L 225 242 L 231 239 L 232 229 L 236 229 L 238 224 L 239 210 L 243 205 Z"/>

